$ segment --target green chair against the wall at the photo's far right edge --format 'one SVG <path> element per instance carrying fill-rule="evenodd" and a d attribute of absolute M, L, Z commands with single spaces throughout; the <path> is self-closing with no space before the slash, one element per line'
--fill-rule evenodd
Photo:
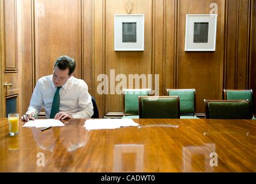
<path fill-rule="evenodd" d="M 235 99 L 249 99 L 251 102 L 251 108 L 254 112 L 254 98 L 253 98 L 253 90 L 223 90 L 224 99 L 227 100 L 235 100 Z M 255 120 L 255 118 L 253 118 Z"/>

